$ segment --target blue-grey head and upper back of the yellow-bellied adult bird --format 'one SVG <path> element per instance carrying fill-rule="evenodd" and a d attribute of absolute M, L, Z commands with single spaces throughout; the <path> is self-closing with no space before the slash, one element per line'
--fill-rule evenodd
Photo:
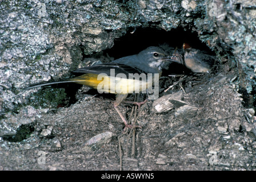
<path fill-rule="evenodd" d="M 130 67 L 141 69 L 146 73 L 161 73 L 162 69 L 168 69 L 171 59 L 165 49 L 161 47 L 148 47 L 137 55 L 131 55 L 114 60 L 114 63 L 129 65 Z"/>

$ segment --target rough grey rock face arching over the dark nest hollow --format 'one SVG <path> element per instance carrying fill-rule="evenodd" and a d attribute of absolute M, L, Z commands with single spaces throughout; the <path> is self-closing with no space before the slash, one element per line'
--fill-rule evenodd
<path fill-rule="evenodd" d="M 223 0 L 1 2 L 0 114 L 29 102 L 35 91 L 21 88 L 67 76 L 77 68 L 82 52 L 91 55 L 111 48 L 128 28 L 147 27 L 147 22 L 166 31 L 190 26 L 217 54 L 231 49 L 230 59 L 253 68 L 256 13 L 247 1 L 239 1 L 243 11 L 237 6 Z M 247 72 L 255 76 L 255 70 Z M 255 84 L 249 78 L 248 93 Z"/>

